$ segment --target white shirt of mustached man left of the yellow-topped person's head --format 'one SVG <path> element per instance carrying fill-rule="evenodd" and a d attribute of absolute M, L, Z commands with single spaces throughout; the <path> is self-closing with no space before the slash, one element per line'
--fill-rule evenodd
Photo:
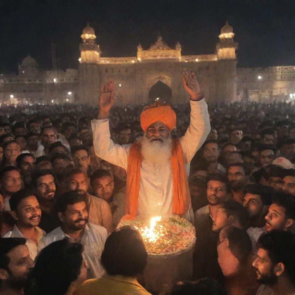
<path fill-rule="evenodd" d="M 55 241 L 62 240 L 65 237 L 69 237 L 70 240 L 75 242 L 73 238 L 62 231 L 61 227 L 58 227 L 41 240 L 43 244 L 42 248 Z M 83 255 L 89 265 L 89 270 L 92 275 L 91 278 L 100 278 L 104 275 L 104 268 L 100 263 L 100 258 L 107 237 L 108 234 L 104 227 L 91 223 L 86 224 L 81 244 L 84 246 Z"/>

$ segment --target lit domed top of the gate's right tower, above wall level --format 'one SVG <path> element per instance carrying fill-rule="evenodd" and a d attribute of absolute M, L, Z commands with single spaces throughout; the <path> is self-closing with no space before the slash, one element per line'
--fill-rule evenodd
<path fill-rule="evenodd" d="M 236 59 L 236 49 L 238 43 L 234 41 L 235 33 L 232 26 L 226 21 L 221 28 L 219 42 L 216 45 L 218 59 Z"/>

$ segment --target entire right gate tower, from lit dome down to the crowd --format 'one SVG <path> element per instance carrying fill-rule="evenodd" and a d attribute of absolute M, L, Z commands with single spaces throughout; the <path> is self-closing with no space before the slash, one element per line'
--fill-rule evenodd
<path fill-rule="evenodd" d="M 234 41 L 232 27 L 226 21 L 219 35 L 216 50 L 218 55 L 216 67 L 217 101 L 235 101 L 237 99 L 237 43 Z"/>

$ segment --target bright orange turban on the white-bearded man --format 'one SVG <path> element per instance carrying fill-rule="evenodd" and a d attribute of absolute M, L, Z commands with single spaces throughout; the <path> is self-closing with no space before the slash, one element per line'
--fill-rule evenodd
<path fill-rule="evenodd" d="M 171 131 L 176 125 L 176 114 L 170 106 L 153 104 L 140 115 L 140 125 L 144 132 L 157 121 L 163 122 Z"/>

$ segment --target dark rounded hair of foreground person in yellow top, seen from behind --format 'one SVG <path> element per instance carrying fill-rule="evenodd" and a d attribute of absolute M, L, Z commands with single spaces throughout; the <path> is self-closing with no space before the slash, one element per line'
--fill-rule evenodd
<path fill-rule="evenodd" d="M 109 275 L 136 276 L 147 264 L 142 237 L 135 229 L 122 227 L 106 239 L 101 264 Z"/>

